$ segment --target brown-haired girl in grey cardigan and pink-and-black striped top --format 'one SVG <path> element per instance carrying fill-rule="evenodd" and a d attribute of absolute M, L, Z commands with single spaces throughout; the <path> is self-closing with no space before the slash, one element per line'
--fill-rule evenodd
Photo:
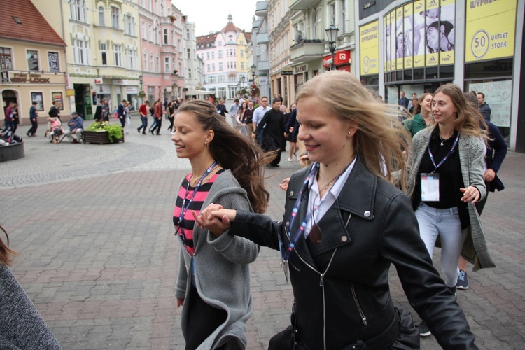
<path fill-rule="evenodd" d="M 261 165 L 269 159 L 234 130 L 209 102 L 182 104 L 172 141 L 177 156 L 188 158 L 192 172 L 182 179 L 174 207 L 181 241 L 177 307 L 183 306 L 186 349 L 244 349 L 251 315 L 249 264 L 259 246 L 234 235 L 216 237 L 195 225 L 204 205 L 265 211 Z"/>

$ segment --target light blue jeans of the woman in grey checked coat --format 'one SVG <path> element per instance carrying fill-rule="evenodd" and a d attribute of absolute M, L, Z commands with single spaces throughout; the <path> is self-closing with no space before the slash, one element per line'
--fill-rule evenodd
<path fill-rule="evenodd" d="M 437 209 L 421 203 L 416 210 L 419 235 L 432 258 L 437 236 L 441 239 L 441 268 L 444 283 L 456 286 L 459 276 L 458 260 L 466 235 L 461 230 L 458 207 Z"/>

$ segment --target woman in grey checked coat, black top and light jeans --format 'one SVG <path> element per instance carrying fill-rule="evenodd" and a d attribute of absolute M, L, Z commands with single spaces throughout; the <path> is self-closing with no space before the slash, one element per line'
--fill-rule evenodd
<path fill-rule="evenodd" d="M 419 224 L 419 234 L 430 257 L 440 239 L 444 282 L 456 293 L 460 254 L 474 268 L 494 267 L 474 204 L 486 196 L 484 138 L 479 113 L 459 87 L 442 85 L 433 94 L 433 127 L 412 139 L 408 186 Z M 430 335 L 425 323 L 422 336 Z"/>

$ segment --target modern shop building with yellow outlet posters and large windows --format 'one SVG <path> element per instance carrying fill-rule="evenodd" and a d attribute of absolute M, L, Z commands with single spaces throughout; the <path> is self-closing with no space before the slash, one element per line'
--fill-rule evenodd
<path fill-rule="evenodd" d="M 525 152 L 524 12 L 517 0 L 356 1 L 356 71 L 394 104 L 402 90 L 419 95 L 445 83 L 483 92 L 491 121 Z"/>

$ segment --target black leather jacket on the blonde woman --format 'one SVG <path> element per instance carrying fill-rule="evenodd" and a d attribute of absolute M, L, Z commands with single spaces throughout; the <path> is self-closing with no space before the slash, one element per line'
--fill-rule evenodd
<path fill-rule="evenodd" d="M 280 235 L 283 249 L 288 248 L 285 229 L 309 170 L 290 179 L 283 223 L 238 211 L 230 232 L 274 249 L 279 249 Z M 299 218 L 304 218 L 306 207 L 301 205 Z M 477 349 L 463 311 L 419 237 L 412 204 L 400 190 L 357 160 L 337 201 L 317 224 L 321 244 L 301 237 L 289 268 L 297 332 L 309 349 L 343 349 L 376 337 L 391 325 L 395 317 L 388 290 L 391 264 L 410 304 L 444 349 Z"/>

